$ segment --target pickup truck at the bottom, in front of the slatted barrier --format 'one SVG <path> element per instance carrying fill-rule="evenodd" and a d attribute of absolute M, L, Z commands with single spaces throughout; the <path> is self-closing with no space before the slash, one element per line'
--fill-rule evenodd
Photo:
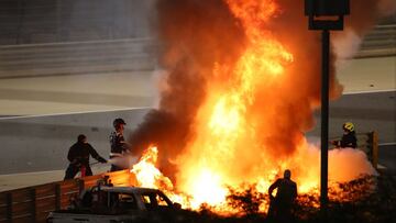
<path fill-rule="evenodd" d="M 185 210 L 161 190 L 138 187 L 94 187 L 67 210 L 51 212 L 47 222 L 185 222 Z"/>

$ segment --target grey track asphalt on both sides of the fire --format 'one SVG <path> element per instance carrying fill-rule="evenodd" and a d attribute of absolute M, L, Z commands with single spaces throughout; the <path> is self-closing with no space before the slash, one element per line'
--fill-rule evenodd
<path fill-rule="evenodd" d="M 358 133 L 377 131 L 382 145 L 395 144 L 395 96 L 396 91 L 346 94 L 332 102 L 330 137 L 340 136 L 342 123 L 352 121 Z M 125 119 L 128 131 L 131 132 L 142 122 L 148 109 L 2 119 L 0 175 L 64 169 L 67 166 L 67 150 L 80 133 L 86 134 L 92 146 L 106 157 L 109 153 L 111 121 L 118 116 Z M 307 133 L 309 137 L 320 137 L 319 112 L 317 123 Z M 396 157 L 392 154 L 395 153 L 395 146 L 382 146 L 380 155 L 383 164 L 394 167 L 392 164 L 396 163 Z"/>

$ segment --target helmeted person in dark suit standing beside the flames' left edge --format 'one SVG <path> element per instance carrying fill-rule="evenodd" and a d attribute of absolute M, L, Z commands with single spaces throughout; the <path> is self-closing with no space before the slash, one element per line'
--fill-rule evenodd
<path fill-rule="evenodd" d="M 113 121 L 113 127 L 116 131 L 110 134 L 110 158 L 123 157 L 123 155 L 129 152 L 128 143 L 123 136 L 124 125 L 127 125 L 127 123 L 123 119 L 118 118 Z M 122 166 L 113 163 L 110 171 L 118 171 L 122 169 L 124 169 Z"/>

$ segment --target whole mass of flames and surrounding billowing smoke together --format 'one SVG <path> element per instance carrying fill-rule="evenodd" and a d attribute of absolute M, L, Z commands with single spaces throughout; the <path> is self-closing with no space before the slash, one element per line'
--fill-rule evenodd
<path fill-rule="evenodd" d="M 363 36 L 385 2 L 351 2 L 356 13 L 345 18 L 345 32 L 336 33 L 332 43 L 331 99 L 342 92 L 336 65 L 354 53 L 339 44 Z M 301 221 L 315 219 L 319 149 L 305 133 L 320 104 L 320 37 L 307 31 L 302 4 L 157 1 L 160 63 L 166 71 L 158 108 L 130 142 L 133 153 L 142 154 L 131 167 L 138 187 L 160 189 L 186 209 L 239 216 L 266 213 L 270 185 L 290 169 L 298 186 L 295 213 Z M 363 201 L 378 189 L 375 176 L 363 152 L 329 150 L 331 210 L 351 215 L 356 207 L 366 210 Z M 370 214 L 360 220 L 370 222 Z"/>

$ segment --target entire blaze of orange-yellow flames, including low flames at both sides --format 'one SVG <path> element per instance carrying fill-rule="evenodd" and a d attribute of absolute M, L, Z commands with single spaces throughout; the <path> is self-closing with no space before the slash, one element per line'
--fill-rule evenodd
<path fill-rule="evenodd" d="M 155 146 L 131 171 L 139 186 L 166 190 L 187 208 L 209 204 L 219 213 L 232 212 L 226 202 L 230 188 L 238 191 L 251 185 L 266 193 L 285 169 L 292 170 L 299 193 L 318 194 L 319 150 L 305 137 L 318 96 L 305 89 L 309 86 L 295 87 L 295 55 L 300 52 L 267 27 L 283 9 L 275 0 L 224 2 L 243 27 L 244 49 L 233 63 L 212 62 L 206 98 L 191 123 L 194 134 L 182 154 L 169 157 L 178 168 L 175 185 L 157 169 Z M 333 181 L 373 172 L 359 152 L 348 156 L 348 164 L 338 163 L 339 156 L 343 155 L 330 153 Z M 355 160 L 364 161 L 353 167 Z M 262 212 L 266 209 L 267 204 L 260 207 Z"/>

